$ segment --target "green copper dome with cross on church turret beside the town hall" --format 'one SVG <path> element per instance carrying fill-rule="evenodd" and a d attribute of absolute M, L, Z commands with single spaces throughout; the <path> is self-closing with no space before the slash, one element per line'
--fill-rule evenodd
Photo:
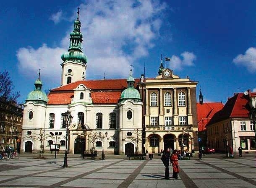
<path fill-rule="evenodd" d="M 120 98 L 120 102 L 123 102 L 127 99 L 132 99 L 136 102 L 141 102 L 141 96 L 138 92 L 137 89 L 134 88 L 134 83 L 135 80 L 134 78 L 130 75 L 127 78 L 127 84 L 128 84 L 128 88 L 125 89 L 122 94 L 121 94 L 121 98 Z"/>

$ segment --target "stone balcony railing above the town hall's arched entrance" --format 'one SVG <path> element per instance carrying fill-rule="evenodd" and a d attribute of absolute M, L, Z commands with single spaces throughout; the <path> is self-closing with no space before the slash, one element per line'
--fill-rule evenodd
<path fill-rule="evenodd" d="M 146 125 L 146 131 L 193 131 L 193 125 Z"/>

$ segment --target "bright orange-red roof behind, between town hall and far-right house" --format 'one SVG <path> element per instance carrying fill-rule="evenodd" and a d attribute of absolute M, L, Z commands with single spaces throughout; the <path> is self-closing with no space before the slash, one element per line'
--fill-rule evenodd
<path fill-rule="evenodd" d="M 199 131 L 204 131 L 206 129 L 205 125 L 211 120 L 212 116 L 224 106 L 222 102 L 197 103 L 196 105 Z"/>

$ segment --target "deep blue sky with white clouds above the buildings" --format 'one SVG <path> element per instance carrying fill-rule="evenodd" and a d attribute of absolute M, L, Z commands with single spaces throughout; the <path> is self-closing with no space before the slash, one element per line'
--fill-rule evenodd
<path fill-rule="evenodd" d="M 44 0 L 6 1 L 0 11 L 0 71 L 7 70 L 18 99 L 60 86 L 61 54 L 69 47 L 80 7 L 86 79 L 154 78 L 161 54 L 180 77 L 199 81 L 207 102 L 256 91 L 256 1 Z"/>

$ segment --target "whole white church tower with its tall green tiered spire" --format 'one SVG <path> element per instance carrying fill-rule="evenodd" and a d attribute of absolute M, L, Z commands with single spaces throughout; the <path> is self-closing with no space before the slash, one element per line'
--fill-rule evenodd
<path fill-rule="evenodd" d="M 79 7 L 77 18 L 74 21 L 74 30 L 70 34 L 70 46 L 61 59 L 63 60 L 61 71 L 61 86 L 75 81 L 85 80 L 87 69 L 87 57 L 81 49 L 83 35 L 80 32 Z"/>

